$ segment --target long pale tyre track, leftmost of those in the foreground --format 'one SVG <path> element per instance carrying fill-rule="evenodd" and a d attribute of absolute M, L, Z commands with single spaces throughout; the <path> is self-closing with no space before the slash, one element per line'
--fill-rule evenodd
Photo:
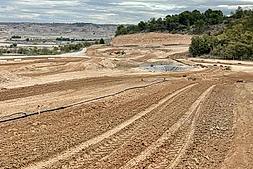
<path fill-rule="evenodd" d="M 88 148 L 91 145 L 97 144 L 99 142 L 101 142 L 104 139 L 109 138 L 110 136 L 112 136 L 113 134 L 119 132 L 120 130 L 124 129 L 125 127 L 129 126 L 130 124 L 132 124 L 134 121 L 141 119 L 144 115 L 146 115 L 147 113 L 149 113 L 150 111 L 154 110 L 155 108 L 158 108 L 159 106 L 161 106 L 162 104 L 164 104 L 165 102 L 167 102 L 168 100 L 172 99 L 173 97 L 177 96 L 178 94 L 180 94 L 181 92 L 192 88 L 193 86 L 195 86 L 196 84 L 192 84 L 189 86 L 186 86 L 180 90 L 177 90 L 176 92 L 172 93 L 171 95 L 163 98 L 162 100 L 160 100 L 157 104 L 151 105 L 149 108 L 147 108 L 146 110 L 136 114 L 135 116 L 133 116 L 132 118 L 128 119 L 127 121 L 121 123 L 120 125 L 116 126 L 115 128 L 97 136 L 94 137 L 90 140 L 87 140 L 85 142 L 83 142 L 82 144 L 67 150 L 59 155 L 57 155 L 56 157 L 53 157 L 51 159 L 49 159 L 48 161 L 41 161 L 38 162 L 34 165 L 28 166 L 25 169 L 42 169 L 45 167 L 50 167 L 52 166 L 54 163 L 58 162 L 58 161 L 62 161 L 65 160 L 75 154 L 77 154 L 78 152 L 82 151 L 83 149 Z"/>

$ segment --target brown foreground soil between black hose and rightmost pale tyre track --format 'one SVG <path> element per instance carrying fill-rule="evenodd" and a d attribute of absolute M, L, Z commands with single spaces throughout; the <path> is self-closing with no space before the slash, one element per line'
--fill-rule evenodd
<path fill-rule="evenodd" d="M 0 125 L 0 152 L 15 154 L 1 155 L 0 168 L 173 168 L 195 139 L 198 109 L 213 84 L 168 82 Z M 32 139 L 16 143 L 25 138 Z"/>

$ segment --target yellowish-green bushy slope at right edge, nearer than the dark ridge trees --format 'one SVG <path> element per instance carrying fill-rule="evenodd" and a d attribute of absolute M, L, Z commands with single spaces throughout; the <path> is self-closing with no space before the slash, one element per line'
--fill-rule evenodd
<path fill-rule="evenodd" d="M 253 11 L 239 7 L 231 14 L 226 29 L 192 38 L 191 56 L 253 60 Z"/>

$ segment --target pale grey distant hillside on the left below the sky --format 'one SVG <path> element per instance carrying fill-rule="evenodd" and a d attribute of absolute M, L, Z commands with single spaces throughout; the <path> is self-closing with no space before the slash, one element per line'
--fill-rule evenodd
<path fill-rule="evenodd" d="M 111 39 L 118 25 L 93 23 L 7 23 L 0 22 L 0 37 L 55 39 L 57 37 L 78 39 Z"/>

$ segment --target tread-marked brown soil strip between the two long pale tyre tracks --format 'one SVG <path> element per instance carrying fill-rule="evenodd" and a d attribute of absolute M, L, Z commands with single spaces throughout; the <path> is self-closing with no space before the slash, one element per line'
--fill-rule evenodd
<path fill-rule="evenodd" d="M 196 89 L 198 88 L 198 92 Z M 203 93 L 207 88 L 203 85 L 196 86 L 195 88 L 187 90 L 187 92 L 177 95 L 173 100 L 168 101 L 165 105 L 150 112 L 147 116 L 141 118 L 143 122 L 134 122 L 133 125 L 127 127 L 126 129 L 120 131 L 120 135 L 125 135 L 126 133 L 133 133 L 128 138 L 117 142 L 117 146 L 110 146 L 105 141 L 99 143 L 98 145 L 91 146 L 87 150 L 78 153 L 72 159 L 66 160 L 56 164 L 56 168 L 90 168 L 90 169 L 100 169 L 100 168 L 120 168 L 124 163 L 131 158 L 134 154 L 139 154 L 144 148 L 159 138 L 167 128 L 173 125 L 181 116 L 187 112 L 188 108 L 193 104 L 195 100 Z M 189 98 L 191 100 L 189 100 Z M 187 104 L 181 105 L 182 102 Z M 188 104 L 189 102 L 189 104 Z M 132 130 L 135 129 L 135 132 Z M 118 137 L 112 136 L 111 139 Z M 145 139 L 143 139 L 145 138 Z M 144 143 L 144 144 L 143 144 Z M 107 144 L 109 147 L 107 151 L 101 150 L 103 145 Z M 95 150 L 95 152 L 93 151 Z M 88 154 L 88 156 L 87 156 Z M 127 156 L 132 156 L 130 159 Z M 127 157 L 127 158 L 125 158 Z"/>

